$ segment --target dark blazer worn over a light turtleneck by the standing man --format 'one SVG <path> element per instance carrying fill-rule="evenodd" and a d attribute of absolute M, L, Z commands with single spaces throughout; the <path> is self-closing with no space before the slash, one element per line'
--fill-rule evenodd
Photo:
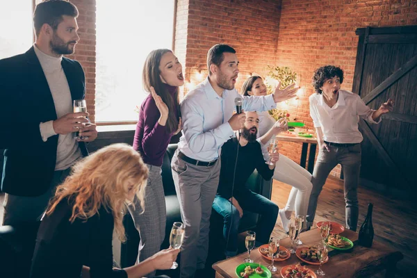
<path fill-rule="evenodd" d="M 83 99 L 85 75 L 80 63 L 63 58 L 61 65 L 72 99 Z M 58 135 L 43 142 L 39 125 L 57 116 L 33 47 L 0 60 L 0 101 L 0 149 L 5 149 L 1 190 L 18 196 L 42 195 L 54 174 Z M 79 146 L 88 155 L 85 143 Z"/>

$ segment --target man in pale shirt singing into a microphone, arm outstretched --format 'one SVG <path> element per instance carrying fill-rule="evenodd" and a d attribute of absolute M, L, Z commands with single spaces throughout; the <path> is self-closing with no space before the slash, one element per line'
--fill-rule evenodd
<path fill-rule="evenodd" d="M 172 176 L 186 234 L 181 252 L 181 278 L 204 269 L 208 249 L 211 206 L 220 176 L 220 150 L 243 128 L 245 113 L 234 113 L 238 77 L 236 51 L 226 44 L 208 50 L 208 77 L 181 102 L 183 136 L 172 158 Z M 295 97 L 294 84 L 266 97 L 243 97 L 243 110 L 267 111 L 276 102 Z M 200 275 L 196 275 L 202 277 Z"/>

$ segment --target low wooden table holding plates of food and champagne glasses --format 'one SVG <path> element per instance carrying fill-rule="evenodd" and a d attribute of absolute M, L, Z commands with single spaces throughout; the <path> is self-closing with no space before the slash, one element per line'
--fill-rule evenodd
<path fill-rule="evenodd" d="M 382 243 L 378 243 L 374 240 L 371 248 L 362 247 L 357 244 L 358 234 L 354 231 L 345 230 L 341 234 L 346 238 L 350 238 L 354 242 L 354 247 L 348 251 L 338 251 L 329 248 L 329 261 L 322 265 L 322 270 L 326 272 L 325 277 L 371 277 L 378 272 L 386 269 L 386 277 L 395 277 L 395 265 L 403 257 L 402 253 L 387 247 Z M 309 246 L 316 245 L 320 237 L 319 229 L 312 229 L 300 234 L 300 239 L 304 243 L 301 245 Z M 289 248 L 291 245 L 290 239 L 284 238 L 280 241 L 280 244 L 284 247 Z M 255 263 L 261 263 L 262 265 L 270 265 L 270 261 L 264 259 L 256 248 L 252 250 L 250 254 L 251 259 Z M 213 264 L 213 269 L 216 272 L 215 277 L 220 278 L 236 278 L 235 274 L 236 267 L 243 263 L 243 259 L 247 258 L 247 252 L 234 256 L 233 258 L 219 261 Z M 291 254 L 291 257 L 286 261 L 275 262 L 275 266 L 278 271 L 272 275 L 274 278 L 281 277 L 280 271 L 284 265 L 291 265 L 302 263 L 295 254 Z M 306 265 L 311 270 L 318 270 L 318 265 Z"/>

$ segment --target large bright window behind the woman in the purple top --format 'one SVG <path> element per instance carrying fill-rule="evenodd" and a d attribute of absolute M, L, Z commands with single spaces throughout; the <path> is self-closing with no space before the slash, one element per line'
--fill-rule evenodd
<path fill-rule="evenodd" d="M 172 49 L 173 23 L 174 0 L 97 1 L 97 122 L 138 120 L 143 63 L 153 49 Z"/>

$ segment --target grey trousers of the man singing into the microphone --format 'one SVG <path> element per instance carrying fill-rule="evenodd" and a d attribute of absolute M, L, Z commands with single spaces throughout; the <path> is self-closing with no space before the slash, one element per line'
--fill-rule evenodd
<path fill-rule="evenodd" d="M 181 219 L 186 226 L 181 246 L 181 278 L 194 277 L 203 269 L 208 252 L 211 206 L 220 177 L 220 159 L 211 166 L 195 166 L 172 157 L 172 178 L 181 207 Z"/>

